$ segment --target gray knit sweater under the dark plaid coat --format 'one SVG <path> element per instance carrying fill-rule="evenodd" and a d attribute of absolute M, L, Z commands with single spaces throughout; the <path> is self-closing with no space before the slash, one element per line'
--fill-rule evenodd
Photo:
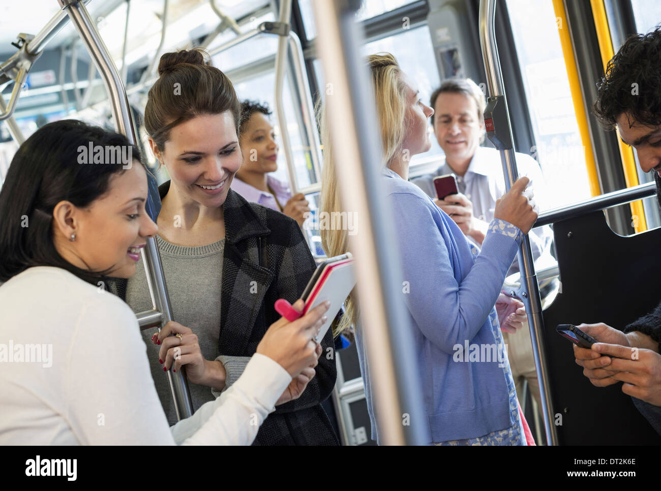
<path fill-rule="evenodd" d="M 157 235 L 161 252 L 161 262 L 170 295 L 173 320 L 190 329 L 198 336 L 202 356 L 206 359 L 220 359 L 228 372 L 227 387 L 243 373 L 250 359 L 248 357 L 219 357 L 218 334 L 220 326 L 221 270 L 225 239 L 210 245 L 185 247 L 171 244 Z M 140 258 L 136 274 L 128 281 L 126 302 L 135 313 L 152 308 L 145 268 Z M 176 423 L 175 404 L 172 400 L 167 374 L 159 363 L 159 350 L 151 342 L 156 328 L 142 331 L 147 344 L 147 358 L 156 390 L 163 404 L 163 410 L 172 425 Z M 219 393 L 205 385 L 188 383 L 193 410 L 214 400 Z"/>

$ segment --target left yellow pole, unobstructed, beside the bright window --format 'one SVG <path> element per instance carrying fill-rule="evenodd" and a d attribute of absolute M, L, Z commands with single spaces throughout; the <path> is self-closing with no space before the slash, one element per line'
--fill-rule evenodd
<path fill-rule="evenodd" d="M 572 93 L 572 102 L 574 102 L 574 113 L 576 114 L 576 123 L 578 123 L 578 132 L 585 149 L 585 164 L 588 169 L 588 180 L 590 182 L 590 192 L 592 196 L 599 196 L 602 190 L 599 186 L 599 176 L 597 174 L 597 164 L 594 161 L 594 152 L 592 151 L 592 141 L 590 140 L 590 127 L 583 107 L 583 94 L 580 90 L 580 81 L 578 71 L 576 70 L 576 58 L 574 57 L 574 48 L 569 36 L 567 16 L 564 11 L 563 0 L 553 0 L 553 10 L 558 24 L 558 34 L 560 44 L 563 47 L 564 66 L 569 79 L 569 88 Z"/>

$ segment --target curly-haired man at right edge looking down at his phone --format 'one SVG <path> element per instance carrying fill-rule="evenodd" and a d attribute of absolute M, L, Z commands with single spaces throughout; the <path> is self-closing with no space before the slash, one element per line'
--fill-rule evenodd
<path fill-rule="evenodd" d="M 641 169 L 654 172 L 661 207 L 661 28 L 629 37 L 598 84 L 594 114 L 605 130 L 617 128 L 634 147 Z M 600 341 L 585 350 L 574 346 L 576 363 L 592 385 L 623 382 L 638 410 L 661 434 L 661 304 L 623 332 L 606 324 L 580 326 Z"/>

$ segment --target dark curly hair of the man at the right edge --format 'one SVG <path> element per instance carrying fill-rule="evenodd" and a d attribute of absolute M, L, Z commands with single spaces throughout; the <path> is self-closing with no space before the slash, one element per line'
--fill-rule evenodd
<path fill-rule="evenodd" d="M 661 124 L 661 24 L 648 34 L 633 34 L 608 62 L 597 83 L 594 115 L 613 130 L 627 112 L 646 126 Z M 630 121 L 631 123 L 631 121 Z"/>

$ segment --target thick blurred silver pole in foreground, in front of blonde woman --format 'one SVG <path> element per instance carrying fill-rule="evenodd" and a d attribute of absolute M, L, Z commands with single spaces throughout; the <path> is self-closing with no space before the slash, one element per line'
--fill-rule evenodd
<path fill-rule="evenodd" d="M 400 264 L 393 246 L 395 230 L 383 209 L 379 123 L 355 17 L 360 1 L 317 1 L 313 6 L 317 46 L 333 86 L 325 104 L 342 204 L 360 219 L 360 234 L 349 240 L 360 278 L 356 286 L 381 441 L 429 443 L 410 322 L 398 294 L 397 266 L 393 268 Z"/>

